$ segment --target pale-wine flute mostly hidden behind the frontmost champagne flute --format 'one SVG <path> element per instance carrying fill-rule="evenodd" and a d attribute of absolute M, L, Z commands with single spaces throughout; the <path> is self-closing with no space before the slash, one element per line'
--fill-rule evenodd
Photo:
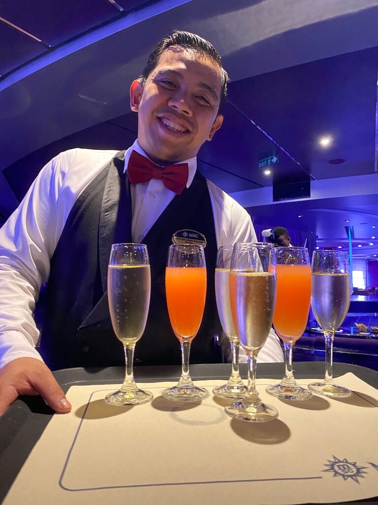
<path fill-rule="evenodd" d="M 231 344 L 232 372 L 228 382 L 215 387 L 213 389 L 213 394 L 221 398 L 236 399 L 241 398 L 247 388 L 244 386 L 239 374 L 240 342 L 236 336 L 235 326 L 232 321 L 230 304 L 230 266 L 232 250 L 233 247 L 219 247 L 215 268 L 215 297 L 223 331 Z"/>

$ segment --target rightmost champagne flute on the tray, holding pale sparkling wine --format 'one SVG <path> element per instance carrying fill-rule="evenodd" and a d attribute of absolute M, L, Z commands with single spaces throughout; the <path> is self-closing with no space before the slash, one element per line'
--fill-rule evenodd
<path fill-rule="evenodd" d="M 312 254 L 311 308 L 326 339 L 326 374 L 308 389 L 325 396 L 349 396 L 350 390 L 333 381 L 333 339 L 350 304 L 349 256 L 346 251 L 316 250 Z"/>

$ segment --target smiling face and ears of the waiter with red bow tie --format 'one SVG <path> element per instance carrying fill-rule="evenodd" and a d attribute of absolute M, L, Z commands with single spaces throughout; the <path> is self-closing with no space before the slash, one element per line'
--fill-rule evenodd
<path fill-rule="evenodd" d="M 174 45 L 168 47 L 143 86 L 130 88 L 138 112 L 138 141 L 156 163 L 196 156 L 221 127 L 218 115 L 221 72 L 208 57 Z"/>

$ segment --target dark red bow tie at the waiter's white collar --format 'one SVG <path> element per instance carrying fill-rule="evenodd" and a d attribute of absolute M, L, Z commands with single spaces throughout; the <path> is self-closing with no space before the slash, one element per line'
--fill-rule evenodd
<path fill-rule="evenodd" d="M 177 194 L 181 194 L 188 177 L 187 163 L 158 167 L 137 151 L 132 152 L 128 164 L 129 181 L 132 184 L 148 182 L 151 179 L 161 179 L 164 186 Z"/>

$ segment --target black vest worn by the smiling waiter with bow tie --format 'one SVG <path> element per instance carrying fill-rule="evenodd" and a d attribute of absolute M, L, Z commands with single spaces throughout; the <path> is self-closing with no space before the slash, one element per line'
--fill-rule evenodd
<path fill-rule="evenodd" d="M 132 242 L 129 179 L 124 151 L 88 185 L 74 204 L 51 259 L 41 337 L 41 355 L 52 369 L 124 364 L 122 344 L 110 322 L 106 277 L 110 247 Z M 146 330 L 136 345 L 135 363 L 180 363 L 180 346 L 171 329 L 165 298 L 165 266 L 174 232 L 203 233 L 207 295 L 202 325 L 192 343 L 191 363 L 220 361 L 214 335 L 220 330 L 214 290 L 217 254 L 214 218 L 206 179 L 196 173 L 176 195 L 142 240 L 151 264 L 151 302 Z"/>

